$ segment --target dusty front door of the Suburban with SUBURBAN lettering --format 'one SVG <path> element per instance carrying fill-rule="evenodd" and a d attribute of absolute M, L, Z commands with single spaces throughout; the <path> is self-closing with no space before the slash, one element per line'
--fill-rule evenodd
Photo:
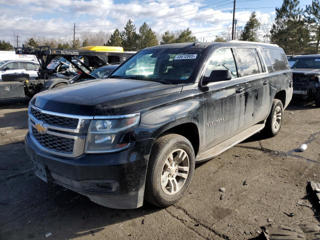
<path fill-rule="evenodd" d="M 232 78 L 202 86 L 205 149 L 233 136 L 244 126 L 245 82 L 238 78 L 231 48 L 220 48 L 212 53 L 204 76 L 218 69 L 229 69 Z"/>

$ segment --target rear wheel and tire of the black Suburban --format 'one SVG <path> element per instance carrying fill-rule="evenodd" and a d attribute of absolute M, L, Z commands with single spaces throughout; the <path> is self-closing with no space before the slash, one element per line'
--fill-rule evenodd
<path fill-rule="evenodd" d="M 280 118 L 276 118 L 280 117 Z M 278 134 L 283 119 L 283 105 L 281 100 L 273 99 L 271 111 L 266 118 L 265 126 L 261 133 L 266 137 L 272 137 Z M 277 123 L 275 123 L 275 121 Z"/>

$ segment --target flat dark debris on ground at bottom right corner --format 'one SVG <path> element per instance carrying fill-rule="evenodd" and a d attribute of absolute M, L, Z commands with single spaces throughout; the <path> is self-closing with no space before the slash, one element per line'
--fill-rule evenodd
<path fill-rule="evenodd" d="M 314 223 L 261 227 L 266 240 L 313 240 L 320 238 L 320 226 Z"/>

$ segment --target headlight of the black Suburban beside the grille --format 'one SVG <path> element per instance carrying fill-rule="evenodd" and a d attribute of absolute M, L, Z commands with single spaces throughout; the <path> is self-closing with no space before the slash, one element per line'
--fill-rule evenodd
<path fill-rule="evenodd" d="M 96 119 L 98 118 L 98 119 Z M 139 123 L 140 114 L 126 116 L 94 117 L 90 121 L 85 142 L 85 153 L 112 152 L 130 146 L 131 142 L 121 142 L 122 133 Z"/>

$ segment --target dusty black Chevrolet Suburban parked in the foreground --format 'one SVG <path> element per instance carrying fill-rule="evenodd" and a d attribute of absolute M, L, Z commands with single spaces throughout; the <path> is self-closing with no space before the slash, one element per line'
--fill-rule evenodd
<path fill-rule="evenodd" d="M 278 133 L 292 96 L 282 48 L 230 41 L 145 48 L 105 79 L 36 94 L 25 149 L 35 173 L 113 208 L 178 201 L 194 164 Z"/>

